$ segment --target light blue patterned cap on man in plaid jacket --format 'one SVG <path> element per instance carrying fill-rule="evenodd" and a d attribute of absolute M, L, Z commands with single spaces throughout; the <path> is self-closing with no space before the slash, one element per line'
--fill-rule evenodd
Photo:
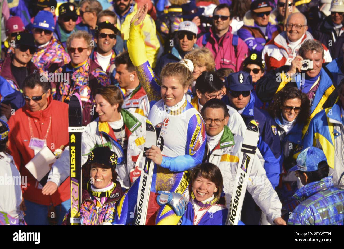
<path fill-rule="evenodd" d="M 321 161 L 326 161 L 326 156 L 324 152 L 315 147 L 308 147 L 302 150 L 296 159 L 297 165 L 292 167 L 289 171 L 317 171 L 318 164 Z"/>

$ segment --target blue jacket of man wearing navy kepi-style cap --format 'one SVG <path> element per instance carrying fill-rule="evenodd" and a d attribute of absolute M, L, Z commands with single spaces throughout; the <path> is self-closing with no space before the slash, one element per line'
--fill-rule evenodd
<path fill-rule="evenodd" d="M 277 124 L 266 111 L 260 110 L 254 105 L 255 97 L 251 93 L 250 101 L 241 113 L 241 117 L 243 117 L 246 125 L 251 120 L 255 120 L 258 124 L 259 140 L 257 147 L 265 160 L 266 176 L 275 189 L 281 173 L 281 142 L 277 135 Z"/>

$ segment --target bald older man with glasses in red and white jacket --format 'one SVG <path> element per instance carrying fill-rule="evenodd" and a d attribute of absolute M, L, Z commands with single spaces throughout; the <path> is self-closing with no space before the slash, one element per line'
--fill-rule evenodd
<path fill-rule="evenodd" d="M 293 13 L 288 16 L 286 31 L 277 35 L 264 46 L 262 58 L 266 62 L 267 71 L 291 64 L 301 45 L 305 41 L 313 39 L 307 30 L 307 19 L 302 13 Z M 324 45 L 323 48 L 325 62 L 331 62 L 329 49 Z"/>

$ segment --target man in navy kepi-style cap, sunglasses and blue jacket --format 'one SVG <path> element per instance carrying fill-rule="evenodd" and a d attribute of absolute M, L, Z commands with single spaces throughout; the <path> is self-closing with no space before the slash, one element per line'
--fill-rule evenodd
<path fill-rule="evenodd" d="M 278 185 L 281 173 L 281 143 L 277 135 L 276 122 L 269 114 L 254 106 L 255 97 L 251 93 L 252 77 L 244 71 L 232 73 L 226 78 L 228 83 L 229 105 L 234 107 L 244 119 L 247 125 L 251 120 L 255 120 L 259 128 L 259 140 L 257 147 L 264 158 L 264 169 L 270 180 L 273 189 Z M 245 137 L 245 135 L 243 135 Z M 251 195 L 246 193 L 244 199 L 241 220 L 245 220 L 246 225 L 258 225 L 260 219 L 259 208 Z M 247 215 L 247 216 L 246 216 Z M 262 220 L 264 220 L 262 215 Z"/>

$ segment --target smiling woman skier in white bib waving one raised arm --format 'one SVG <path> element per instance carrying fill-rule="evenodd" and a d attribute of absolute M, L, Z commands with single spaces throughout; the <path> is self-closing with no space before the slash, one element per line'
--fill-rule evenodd
<path fill-rule="evenodd" d="M 203 119 L 185 97 L 193 80 L 193 64 L 190 60 L 167 64 L 161 71 L 160 85 L 143 52 L 144 41 L 139 32 L 140 23 L 146 14 L 147 4 L 139 8 L 131 20 L 127 45 L 130 59 L 150 101 L 148 118 L 157 129 L 161 128 L 158 146 L 151 146 L 146 150 L 146 157 L 152 159 L 156 165 L 151 191 L 178 191 L 188 197 L 188 170 L 202 162 L 206 140 Z M 136 205 L 139 182 L 134 182 L 126 197 L 121 200 L 122 211 L 117 211 L 116 214 L 118 224 L 134 222 L 135 217 L 130 212 Z M 153 200 L 150 200 L 149 206 L 152 203 Z M 147 215 L 147 218 L 155 220 L 155 215 L 157 225 L 176 225 L 180 219 L 168 206 L 157 207 L 152 216 Z"/>

